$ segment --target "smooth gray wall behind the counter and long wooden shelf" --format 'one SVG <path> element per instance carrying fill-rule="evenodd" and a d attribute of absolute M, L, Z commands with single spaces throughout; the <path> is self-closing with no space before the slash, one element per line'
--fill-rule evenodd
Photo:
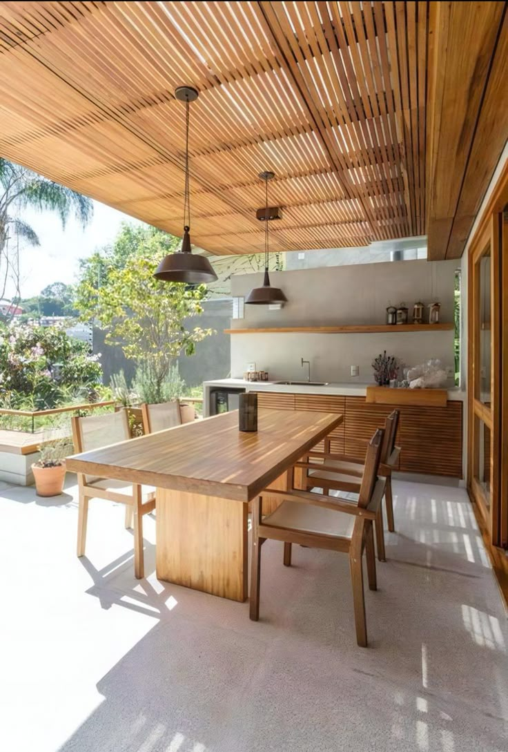
<path fill-rule="evenodd" d="M 453 289 L 458 261 L 401 261 L 271 272 L 271 284 L 288 298 L 284 308 L 245 306 L 245 318 L 231 323 L 237 329 L 285 326 L 383 324 L 386 306 L 404 301 L 412 311 L 421 299 L 441 303 L 441 320 L 453 321 Z M 234 296 L 246 296 L 262 284 L 261 274 L 232 277 Z M 428 309 L 425 309 L 425 317 Z M 427 319 L 425 319 L 427 320 Z M 301 358 L 310 360 L 318 381 L 370 382 L 372 360 L 386 350 L 408 367 L 430 358 L 453 366 L 453 338 L 449 331 L 383 332 L 368 334 L 239 334 L 231 336 L 231 376 L 239 378 L 247 363 L 268 371 L 273 379 L 306 378 Z M 351 366 L 360 369 L 351 376 Z M 453 368 L 452 368 L 453 372 Z M 210 378 L 215 378 L 212 374 Z M 452 376 L 450 386 L 452 386 Z"/>

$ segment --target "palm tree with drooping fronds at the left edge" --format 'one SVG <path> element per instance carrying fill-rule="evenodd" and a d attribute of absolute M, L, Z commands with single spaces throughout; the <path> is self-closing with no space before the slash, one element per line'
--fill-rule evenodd
<path fill-rule="evenodd" d="M 20 299 L 19 241 L 39 245 L 35 230 L 20 217 L 26 208 L 56 211 L 63 227 L 74 214 L 85 227 L 93 205 L 86 196 L 0 157 L 0 298 L 11 280 Z"/>

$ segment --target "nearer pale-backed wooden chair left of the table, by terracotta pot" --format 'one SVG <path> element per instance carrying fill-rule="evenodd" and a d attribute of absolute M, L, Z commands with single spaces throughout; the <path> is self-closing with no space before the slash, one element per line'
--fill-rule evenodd
<path fill-rule="evenodd" d="M 127 411 L 73 417 L 72 438 L 76 453 L 128 441 L 131 438 Z M 85 555 L 86 522 L 90 499 L 107 499 L 110 502 L 125 504 L 125 527 L 134 523 L 134 572 L 135 577 L 144 577 L 143 556 L 143 515 L 156 506 L 156 490 L 153 486 L 140 486 L 126 481 L 96 478 L 92 475 L 77 474 L 79 488 L 79 517 L 77 525 L 77 556 Z"/>

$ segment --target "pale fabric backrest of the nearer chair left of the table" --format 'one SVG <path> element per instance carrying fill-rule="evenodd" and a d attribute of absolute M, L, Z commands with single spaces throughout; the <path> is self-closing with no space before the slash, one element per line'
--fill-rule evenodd
<path fill-rule="evenodd" d="M 129 416 L 125 409 L 115 413 L 73 417 L 71 424 L 74 451 L 77 453 L 109 447 L 110 444 L 118 444 L 119 441 L 131 438 Z M 95 475 L 85 475 L 86 483 L 92 483 L 97 479 Z"/>

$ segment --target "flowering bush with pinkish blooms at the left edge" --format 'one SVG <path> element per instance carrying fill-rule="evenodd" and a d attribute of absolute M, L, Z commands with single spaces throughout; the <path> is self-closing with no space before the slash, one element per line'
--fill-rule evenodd
<path fill-rule="evenodd" d="M 0 325 L 0 406 L 44 410 L 95 399 L 98 356 L 62 326 Z"/>

